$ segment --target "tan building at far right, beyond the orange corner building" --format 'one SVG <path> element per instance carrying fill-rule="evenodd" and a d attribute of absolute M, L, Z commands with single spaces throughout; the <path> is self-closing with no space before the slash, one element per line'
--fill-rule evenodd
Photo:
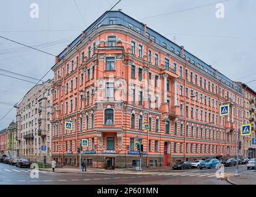
<path fill-rule="evenodd" d="M 244 124 L 252 124 L 252 135 L 242 137 L 242 150 L 244 157 L 253 158 L 253 149 L 252 149 L 252 138 L 256 137 L 255 135 L 255 101 L 256 101 L 256 92 L 250 89 L 249 86 L 243 83 L 239 83 L 242 86 L 244 92 Z"/>

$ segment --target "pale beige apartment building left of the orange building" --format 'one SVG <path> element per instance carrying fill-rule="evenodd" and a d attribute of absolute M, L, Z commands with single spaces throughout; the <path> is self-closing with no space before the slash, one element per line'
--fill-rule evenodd
<path fill-rule="evenodd" d="M 32 161 L 51 162 L 51 81 L 37 84 L 17 108 L 18 155 Z M 41 151 L 46 146 L 46 152 Z"/>

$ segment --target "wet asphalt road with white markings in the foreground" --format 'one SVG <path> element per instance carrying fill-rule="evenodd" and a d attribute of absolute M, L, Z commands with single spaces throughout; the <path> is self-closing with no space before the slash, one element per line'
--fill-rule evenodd
<path fill-rule="evenodd" d="M 227 185 L 225 180 L 216 178 L 216 169 L 164 169 L 160 171 L 143 171 L 130 174 L 95 174 L 88 172 L 58 173 L 39 171 L 38 178 L 30 177 L 32 169 L 18 168 L 0 163 L 1 185 Z M 234 175 L 236 167 L 226 167 L 224 174 Z M 239 172 L 247 170 L 247 166 L 239 166 Z M 110 171 L 109 171 L 110 172 Z"/>

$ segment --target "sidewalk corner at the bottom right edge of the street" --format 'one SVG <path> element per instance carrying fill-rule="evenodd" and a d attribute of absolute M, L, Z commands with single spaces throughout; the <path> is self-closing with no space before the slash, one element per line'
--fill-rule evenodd
<path fill-rule="evenodd" d="M 229 177 L 228 182 L 233 185 L 256 185 L 256 172 L 245 172 L 237 177 Z"/>

